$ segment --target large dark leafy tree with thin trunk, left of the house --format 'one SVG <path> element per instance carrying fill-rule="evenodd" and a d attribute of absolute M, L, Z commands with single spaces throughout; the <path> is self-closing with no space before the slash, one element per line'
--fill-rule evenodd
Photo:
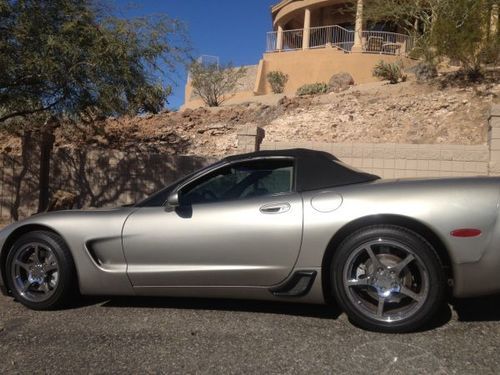
<path fill-rule="evenodd" d="M 40 142 L 39 211 L 55 128 L 160 111 L 171 93 L 161 74 L 186 60 L 187 46 L 167 16 L 119 19 L 91 0 L 0 0 L 0 126 Z"/>

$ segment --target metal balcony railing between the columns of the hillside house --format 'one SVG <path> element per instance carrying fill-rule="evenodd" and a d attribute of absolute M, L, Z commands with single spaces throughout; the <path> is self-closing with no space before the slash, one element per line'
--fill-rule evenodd
<path fill-rule="evenodd" d="M 338 25 L 312 27 L 309 33 L 309 49 L 334 47 L 352 52 L 355 32 Z M 278 32 L 267 33 L 267 52 L 302 49 L 304 30 L 286 30 L 281 40 Z M 363 31 L 361 52 L 407 56 L 413 48 L 413 37 L 386 31 Z"/>

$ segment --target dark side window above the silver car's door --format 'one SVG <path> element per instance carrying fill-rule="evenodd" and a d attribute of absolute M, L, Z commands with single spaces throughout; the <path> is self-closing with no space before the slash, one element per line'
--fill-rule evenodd
<path fill-rule="evenodd" d="M 218 169 L 182 189 L 181 205 L 287 193 L 293 189 L 293 160 L 244 162 Z"/>

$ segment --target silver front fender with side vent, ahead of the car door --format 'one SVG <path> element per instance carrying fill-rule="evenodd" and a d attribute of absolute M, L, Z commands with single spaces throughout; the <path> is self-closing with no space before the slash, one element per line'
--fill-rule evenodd
<path fill-rule="evenodd" d="M 92 211 L 60 211 L 32 216 L 0 231 L 0 289 L 8 293 L 5 278 L 7 252 L 20 235 L 32 230 L 52 231 L 66 242 L 73 260 L 80 292 L 87 295 L 129 295 L 133 288 L 127 277 L 122 248 L 122 229 L 134 208 Z M 96 261 L 93 248 L 108 262 Z"/>

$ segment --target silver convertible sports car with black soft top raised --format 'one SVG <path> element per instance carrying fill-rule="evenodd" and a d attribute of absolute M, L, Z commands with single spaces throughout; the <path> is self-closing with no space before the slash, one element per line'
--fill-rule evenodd
<path fill-rule="evenodd" d="M 412 331 L 450 295 L 500 291 L 499 195 L 499 178 L 381 180 L 305 149 L 231 156 L 131 207 L 4 228 L 0 288 L 37 310 L 79 294 L 337 303 Z"/>

